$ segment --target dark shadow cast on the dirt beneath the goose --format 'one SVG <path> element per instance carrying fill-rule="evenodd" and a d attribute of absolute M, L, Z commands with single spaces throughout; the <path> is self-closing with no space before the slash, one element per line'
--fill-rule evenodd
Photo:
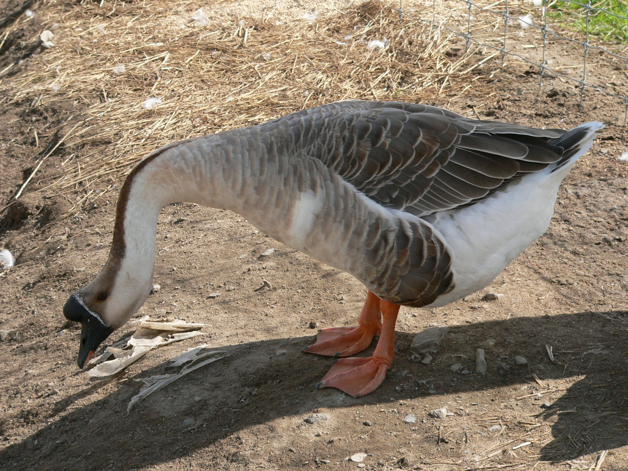
<path fill-rule="evenodd" d="M 627 445 L 628 313 L 514 317 L 450 328 L 431 365 L 411 362 L 408 345 L 414 334 L 398 332 L 399 353 L 393 369 L 375 393 L 359 399 L 336 389 L 315 389 L 330 360 L 300 353 L 311 343 L 311 336 L 220 347 L 230 356 L 154 393 L 130 414 L 126 407 L 139 391 L 138 382 L 95 380 L 90 386 L 94 390 L 102 384 L 110 389 L 115 384 L 117 389 L 84 406 L 77 405 L 85 398 L 83 392 L 76 398 L 60 399 L 57 409 L 63 416 L 4 448 L 0 463 L 4 470 L 133 470 L 219 447 L 217 453 L 222 453 L 225 463 L 243 467 L 247 458 L 237 451 L 242 445 L 237 431 L 266 426 L 276 418 L 307 414 L 317 408 L 333 411 L 386 404 L 391 402 L 391 394 L 420 404 L 422 398 L 434 397 L 428 393 L 428 385 L 437 396 L 467 393 L 471 398 L 474 393 L 479 396 L 479 390 L 512 386 L 512 397 L 506 403 L 514 409 L 515 396 L 524 395 L 519 391 L 521 386 L 528 387 L 526 393 L 534 388 L 533 374 L 541 382 L 551 380 L 553 387 L 560 387 L 555 385 L 561 380 L 570 384 L 546 409 L 539 407 L 542 398 L 521 399 L 539 401 L 534 410 L 540 413 L 529 421 L 542 418 L 551 425 L 551 435 L 546 435 L 549 440 L 544 440 L 536 459 L 556 462 Z M 485 347 L 489 360 L 486 376 L 451 371 L 452 355 L 458 354 L 468 357 L 463 365 L 472 371 L 475 349 L 487 338 L 494 338 L 495 344 Z M 556 363 L 549 361 L 546 344 L 556 352 Z M 286 353 L 278 355 L 278 350 Z M 528 364 L 504 371 L 500 363 L 511 365 L 514 355 L 523 355 Z M 168 368 L 161 364 L 136 377 L 165 372 Z M 421 382 L 428 378 L 431 381 Z M 536 384 L 534 391 L 539 390 L 543 387 Z M 188 417 L 194 418 L 192 426 L 183 425 Z M 295 418 L 295 423 L 302 424 L 302 418 Z"/>

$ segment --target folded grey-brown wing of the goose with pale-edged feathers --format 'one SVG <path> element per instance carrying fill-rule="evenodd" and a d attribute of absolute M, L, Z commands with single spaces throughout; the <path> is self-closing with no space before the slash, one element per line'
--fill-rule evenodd
<path fill-rule="evenodd" d="M 474 204 L 563 157 L 565 131 L 478 121 L 438 107 L 349 100 L 266 126 L 376 202 L 418 216 Z"/>

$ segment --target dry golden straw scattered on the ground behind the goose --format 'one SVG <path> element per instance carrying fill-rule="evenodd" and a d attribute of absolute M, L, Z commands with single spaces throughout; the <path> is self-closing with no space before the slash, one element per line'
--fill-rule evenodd
<path fill-rule="evenodd" d="M 375 2 L 284 23 L 115 0 L 48 3 L 41 15 L 58 22 L 54 46 L 0 89 L 9 104 L 75 108 L 60 129 L 45 129 L 59 133 L 60 164 L 25 190 L 78 192 L 73 210 L 173 141 L 335 100 L 447 105 L 447 94 L 479 85 L 468 77 L 482 59 L 474 49 Z"/>

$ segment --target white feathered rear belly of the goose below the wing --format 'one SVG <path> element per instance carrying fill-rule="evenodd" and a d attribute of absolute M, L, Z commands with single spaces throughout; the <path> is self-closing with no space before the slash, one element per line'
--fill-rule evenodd
<path fill-rule="evenodd" d="M 558 186 L 572 166 L 526 175 L 473 206 L 425 217 L 453 252 L 455 283 L 452 291 L 425 307 L 444 306 L 485 288 L 542 236 L 554 213 Z"/>

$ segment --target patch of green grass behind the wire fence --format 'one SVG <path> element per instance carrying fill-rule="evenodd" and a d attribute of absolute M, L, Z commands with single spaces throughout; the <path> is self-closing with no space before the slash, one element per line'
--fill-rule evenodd
<path fill-rule="evenodd" d="M 586 3 L 586 0 L 575 0 Z M 610 13 L 628 18 L 627 0 L 592 1 L 593 8 L 604 8 Z M 564 21 L 565 25 L 578 31 L 587 30 L 587 9 L 573 3 L 559 1 L 548 11 L 548 16 L 554 21 Z M 593 10 L 589 16 L 589 35 L 614 43 L 628 44 L 628 19 L 617 18 L 605 11 Z"/>

